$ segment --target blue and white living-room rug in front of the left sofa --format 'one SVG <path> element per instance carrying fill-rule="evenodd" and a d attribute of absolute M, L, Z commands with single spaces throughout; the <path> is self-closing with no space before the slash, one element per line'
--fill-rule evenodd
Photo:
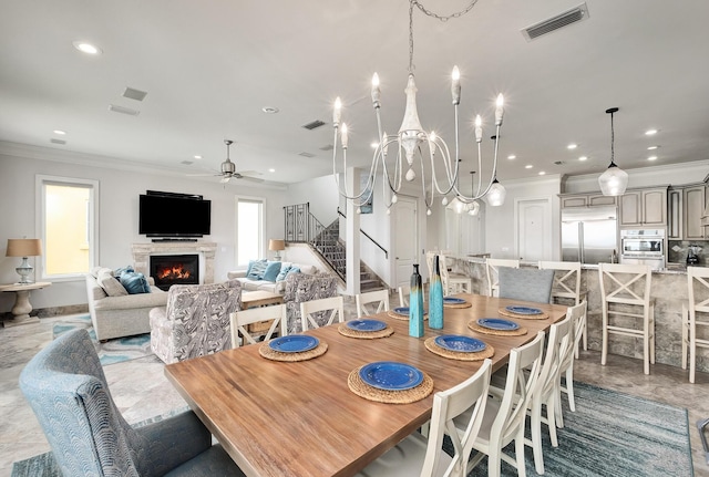
<path fill-rule="evenodd" d="M 150 333 L 138 334 L 135 336 L 116 338 L 109 340 L 105 343 L 99 342 L 91 323 L 91 315 L 89 314 L 66 317 L 65 319 L 58 321 L 54 323 L 54 328 L 52 330 L 53 338 L 78 328 L 83 328 L 89 331 L 91 341 L 96 348 L 96 353 L 99 353 L 99 357 L 101 359 L 101 364 L 104 366 L 153 355 L 153 352 L 151 351 Z"/>

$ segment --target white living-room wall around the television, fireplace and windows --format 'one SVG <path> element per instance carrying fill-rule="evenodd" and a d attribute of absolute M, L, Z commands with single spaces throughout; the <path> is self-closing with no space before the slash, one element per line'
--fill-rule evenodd
<path fill-rule="evenodd" d="M 266 200 L 266 236 L 264 247 L 268 249 L 268 238 L 284 236 L 284 212 L 286 193 L 284 189 L 249 187 L 248 183 L 222 185 L 214 180 L 195 179 L 155 170 L 119 170 L 105 157 L 94 157 L 106 167 L 90 166 L 81 160 L 68 164 L 55 160 L 68 153 L 54 149 L 8 146 L 0 144 L 0 283 L 18 280 L 14 268 L 19 260 L 4 257 L 8 238 L 39 237 L 35 229 L 35 175 L 94 179 L 100 183 L 99 191 L 99 265 L 117 268 L 131 265 L 131 245 L 148 239 L 137 232 L 137 200 L 145 190 L 201 194 L 212 200 L 212 235 L 205 241 L 217 243 L 215 280 L 226 280 L 227 271 L 235 267 L 235 196 L 263 197 Z M 78 155 L 88 159 L 85 155 Z M 33 263 L 34 265 L 34 263 Z M 37 265 L 34 265 L 37 268 Z M 56 281 L 52 287 L 32 292 L 35 309 L 86 303 L 83 278 Z M 10 311 L 14 302 L 13 293 L 0 293 L 0 312 Z"/>

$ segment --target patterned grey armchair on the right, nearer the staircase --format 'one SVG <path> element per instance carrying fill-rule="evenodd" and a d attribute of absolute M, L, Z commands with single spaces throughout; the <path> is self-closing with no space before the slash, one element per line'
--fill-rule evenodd
<path fill-rule="evenodd" d="M 328 273 L 290 273 L 286 278 L 286 315 L 288 334 L 302 332 L 300 303 L 337 295 L 337 278 Z"/>

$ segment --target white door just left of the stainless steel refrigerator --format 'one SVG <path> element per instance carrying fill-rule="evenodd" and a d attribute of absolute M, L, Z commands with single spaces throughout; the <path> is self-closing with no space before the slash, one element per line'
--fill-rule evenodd
<path fill-rule="evenodd" d="M 552 259 L 552 204 L 549 199 L 518 200 L 517 250 L 521 260 Z"/>

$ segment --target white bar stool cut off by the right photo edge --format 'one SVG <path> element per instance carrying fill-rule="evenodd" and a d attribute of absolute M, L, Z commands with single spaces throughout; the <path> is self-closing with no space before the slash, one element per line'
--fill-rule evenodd
<path fill-rule="evenodd" d="M 697 338 L 697 326 L 709 329 L 709 268 L 687 267 L 689 303 L 682 303 L 682 370 L 687 369 L 689 351 L 689 382 L 695 382 L 697 346 L 709 348 L 709 339 Z M 697 319 L 699 318 L 699 320 Z M 701 334 L 706 336 L 706 334 Z"/>

